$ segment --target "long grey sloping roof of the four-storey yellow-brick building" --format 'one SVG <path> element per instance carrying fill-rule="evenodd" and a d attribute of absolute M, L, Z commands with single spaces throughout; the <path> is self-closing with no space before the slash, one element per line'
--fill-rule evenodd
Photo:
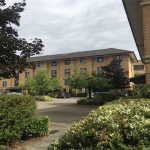
<path fill-rule="evenodd" d="M 64 53 L 64 54 L 56 54 L 56 55 L 31 57 L 27 59 L 27 62 L 53 61 L 53 60 L 70 59 L 70 58 L 116 55 L 116 54 L 127 54 L 127 53 L 131 53 L 133 59 L 137 60 L 133 51 L 109 48 L 109 49 L 103 49 L 103 50 L 91 50 L 91 51 L 82 51 L 82 52 L 74 52 L 74 53 Z"/>

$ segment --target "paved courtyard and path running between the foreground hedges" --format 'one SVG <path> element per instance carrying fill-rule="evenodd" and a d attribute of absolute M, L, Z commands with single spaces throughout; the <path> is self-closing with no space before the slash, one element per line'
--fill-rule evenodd
<path fill-rule="evenodd" d="M 64 134 L 73 122 L 79 121 L 97 108 L 96 106 L 76 105 L 78 99 L 54 99 L 53 102 L 37 102 L 37 114 L 48 115 L 51 119 L 50 135 L 20 142 L 12 150 L 46 150 L 51 143 Z"/>

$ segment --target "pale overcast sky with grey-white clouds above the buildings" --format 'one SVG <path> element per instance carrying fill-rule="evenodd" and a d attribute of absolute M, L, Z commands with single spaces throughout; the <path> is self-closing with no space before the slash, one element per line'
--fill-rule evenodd
<path fill-rule="evenodd" d="M 19 0 L 6 0 L 9 4 Z M 120 48 L 135 51 L 122 0 L 26 0 L 20 37 L 41 38 L 44 55 Z"/>

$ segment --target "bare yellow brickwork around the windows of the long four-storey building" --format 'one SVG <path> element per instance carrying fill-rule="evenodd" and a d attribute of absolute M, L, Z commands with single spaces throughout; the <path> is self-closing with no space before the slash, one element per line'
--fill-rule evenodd
<path fill-rule="evenodd" d="M 80 72 L 80 68 L 87 68 L 89 73 L 92 72 L 97 72 L 98 67 L 102 66 L 107 66 L 113 59 L 113 55 L 106 55 L 102 56 L 104 57 L 103 62 L 97 62 L 97 57 L 98 56 L 91 56 L 86 58 L 86 63 L 81 64 L 80 63 L 80 58 L 73 58 L 71 59 L 70 65 L 65 65 L 64 60 L 59 60 L 57 61 L 57 66 L 52 66 L 51 63 L 52 61 L 47 61 L 43 62 L 43 67 L 46 67 L 48 70 L 49 75 L 51 76 L 51 71 L 52 70 L 57 70 L 57 78 L 60 80 L 60 84 L 63 88 L 66 88 L 67 92 L 69 92 L 69 87 L 64 85 L 64 79 L 67 79 L 67 76 L 64 74 L 64 69 L 71 69 L 71 75 L 77 71 L 78 73 Z M 134 76 L 133 72 L 133 63 L 129 57 L 129 54 L 122 55 L 122 67 L 126 71 L 127 77 L 131 78 Z M 34 74 L 37 73 L 39 67 L 36 67 L 36 69 L 27 69 L 26 71 L 30 72 L 30 76 L 33 76 Z M 25 72 L 21 73 L 19 75 L 19 84 L 23 84 L 25 81 Z M 14 79 L 8 79 L 8 86 L 13 87 L 14 86 Z M 2 85 L 2 80 L 0 80 L 0 87 Z M 1 87 L 1 89 L 4 89 Z"/>

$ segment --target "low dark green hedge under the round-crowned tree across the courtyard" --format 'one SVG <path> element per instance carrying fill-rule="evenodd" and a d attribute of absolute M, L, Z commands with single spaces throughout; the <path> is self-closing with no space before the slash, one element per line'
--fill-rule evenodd
<path fill-rule="evenodd" d="M 107 102 L 117 100 L 118 96 L 116 94 L 103 94 L 97 98 L 93 99 L 81 99 L 77 101 L 79 105 L 104 105 Z"/>

